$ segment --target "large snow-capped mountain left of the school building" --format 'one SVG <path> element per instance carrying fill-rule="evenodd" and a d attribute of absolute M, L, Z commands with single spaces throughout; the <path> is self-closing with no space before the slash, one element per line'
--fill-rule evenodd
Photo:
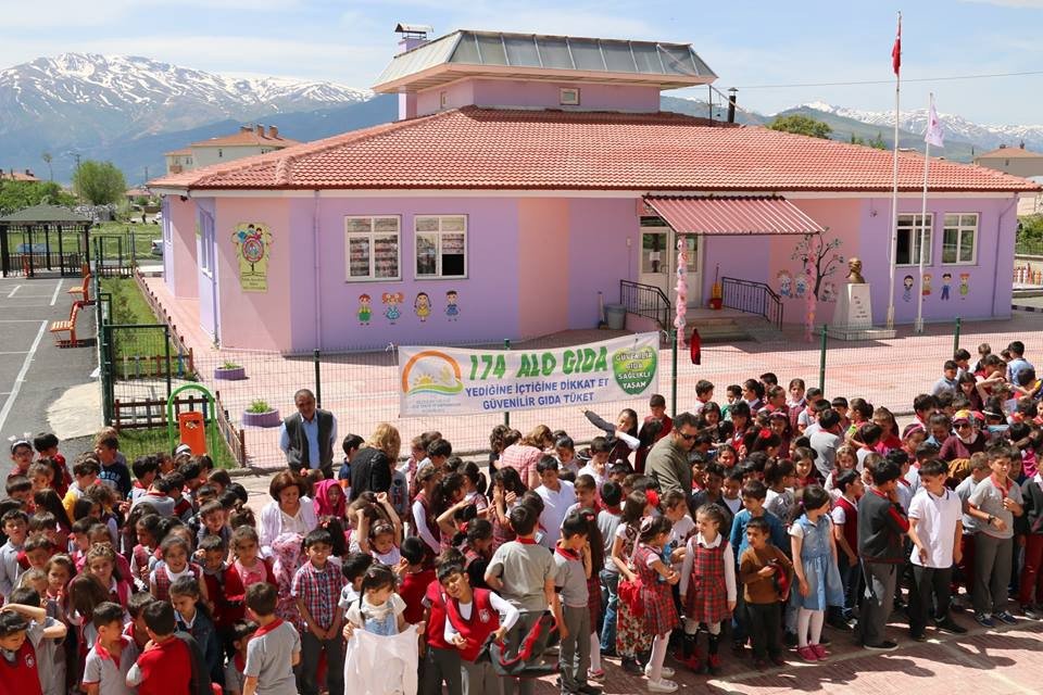
<path fill-rule="evenodd" d="M 334 83 L 237 78 L 148 58 L 63 53 L 0 71 L 0 136 L 45 136 L 52 147 L 84 137 L 109 142 L 370 97 Z"/>

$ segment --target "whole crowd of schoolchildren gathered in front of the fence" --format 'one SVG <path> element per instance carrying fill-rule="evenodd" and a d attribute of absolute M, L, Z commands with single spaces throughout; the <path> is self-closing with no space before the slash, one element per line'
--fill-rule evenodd
<path fill-rule="evenodd" d="M 0 682 L 26 695 L 513 695 L 557 673 L 598 695 L 605 658 L 677 690 L 721 671 L 1015 623 L 1043 608 L 1040 380 L 1011 343 L 957 351 L 900 428 L 863 399 L 772 374 L 700 381 L 675 418 L 586 412 L 594 431 L 498 427 L 488 471 L 438 432 L 344 439 L 336 480 L 246 490 L 179 446 L 129 466 L 117 433 L 70 467 L 14 438 L 0 502 Z M 588 446 L 586 440 L 596 430 Z M 366 450 L 378 448 L 379 457 Z M 388 489 L 348 469 L 391 467 Z M 359 479 L 361 477 L 356 477 Z M 960 592 L 963 590 L 963 592 Z M 969 602 L 969 604 L 967 603 Z M 835 636 L 835 633 L 833 633 Z M 892 633 L 893 637 L 894 634 Z M 791 653 L 792 650 L 792 653 Z"/>

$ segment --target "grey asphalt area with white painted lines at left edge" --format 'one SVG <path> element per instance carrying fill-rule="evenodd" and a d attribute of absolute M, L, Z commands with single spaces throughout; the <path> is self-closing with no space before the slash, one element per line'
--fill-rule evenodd
<path fill-rule="evenodd" d="M 58 348 L 48 331 L 67 319 L 78 278 L 0 279 L 0 437 L 51 429 L 48 409 L 77 384 L 89 383 L 97 366 L 93 308 L 77 319 L 79 348 Z M 100 417 L 98 418 L 100 422 Z M 61 434 L 60 434 L 61 437 Z"/>

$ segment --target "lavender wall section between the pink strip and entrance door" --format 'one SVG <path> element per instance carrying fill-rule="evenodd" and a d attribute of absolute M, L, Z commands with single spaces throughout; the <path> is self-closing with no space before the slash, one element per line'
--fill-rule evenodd
<path fill-rule="evenodd" d="M 593 328 L 598 292 L 605 304 L 616 304 L 619 280 L 638 277 L 640 230 L 633 199 L 571 199 L 568 227 L 568 327 Z"/>

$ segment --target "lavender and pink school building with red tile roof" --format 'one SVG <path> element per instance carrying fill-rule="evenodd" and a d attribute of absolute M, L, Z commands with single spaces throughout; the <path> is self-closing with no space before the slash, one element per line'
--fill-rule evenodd
<path fill-rule="evenodd" d="M 499 342 L 620 302 L 666 324 L 678 242 L 693 309 L 717 280 L 730 306 L 802 324 L 813 294 L 829 321 L 857 256 L 884 321 L 891 152 L 661 112 L 716 79 L 690 45 L 411 28 L 375 86 L 399 121 L 150 182 L 167 288 L 219 345 Z M 1040 187 L 939 160 L 921 219 L 922 156 L 899 160 L 896 321 L 923 225 L 925 319 L 1008 316 Z"/>

